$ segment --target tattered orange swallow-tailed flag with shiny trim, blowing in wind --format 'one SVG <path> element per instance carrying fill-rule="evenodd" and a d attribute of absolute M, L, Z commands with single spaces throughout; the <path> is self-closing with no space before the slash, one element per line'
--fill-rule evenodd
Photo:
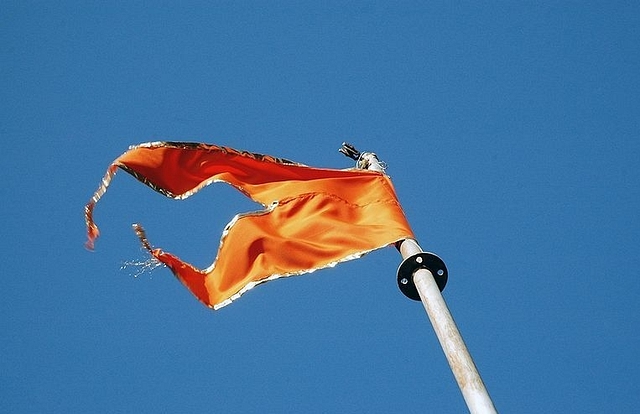
<path fill-rule="evenodd" d="M 227 225 L 207 269 L 152 248 L 142 227 L 135 226 L 150 253 L 214 309 L 259 283 L 334 266 L 413 238 L 391 181 L 382 173 L 310 168 L 208 144 L 153 142 L 118 157 L 85 206 L 89 249 L 99 235 L 95 204 L 118 168 L 167 197 L 183 199 L 213 182 L 226 182 L 264 205 Z"/>

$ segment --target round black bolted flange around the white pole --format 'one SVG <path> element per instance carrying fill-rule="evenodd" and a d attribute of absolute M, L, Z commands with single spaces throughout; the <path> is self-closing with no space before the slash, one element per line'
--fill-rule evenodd
<path fill-rule="evenodd" d="M 413 274 L 418 269 L 427 269 L 430 271 L 438 284 L 440 292 L 444 290 L 444 287 L 447 285 L 447 280 L 449 279 L 447 266 L 445 266 L 442 259 L 435 254 L 421 252 L 407 257 L 400 263 L 400 267 L 398 267 L 398 287 L 406 297 L 413 300 L 420 300 L 418 289 L 416 289 L 416 285 L 413 282 Z"/>

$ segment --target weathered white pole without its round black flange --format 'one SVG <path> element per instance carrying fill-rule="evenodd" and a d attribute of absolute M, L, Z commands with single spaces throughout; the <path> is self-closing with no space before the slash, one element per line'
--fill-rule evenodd
<path fill-rule="evenodd" d="M 343 144 L 344 146 L 345 144 Z M 353 149 L 355 150 L 355 148 Z M 345 154 L 350 156 L 346 152 Z M 384 172 L 378 157 L 373 153 L 360 154 L 358 165 L 361 168 Z M 412 239 L 402 241 L 398 249 L 403 259 L 423 253 L 418 243 Z M 453 376 L 462 391 L 469 412 L 471 414 L 496 413 L 491 397 L 489 397 L 484 382 L 480 378 L 480 373 L 473 363 L 471 354 L 467 350 L 433 274 L 427 269 L 419 268 L 413 273 L 413 283 L 440 341 L 440 346 L 447 357 Z"/>

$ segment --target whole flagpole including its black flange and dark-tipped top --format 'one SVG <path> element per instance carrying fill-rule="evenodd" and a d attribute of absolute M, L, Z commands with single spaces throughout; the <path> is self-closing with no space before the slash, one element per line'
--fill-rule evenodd
<path fill-rule="evenodd" d="M 340 152 L 356 159 L 359 168 L 384 172 L 373 153 L 361 154 L 347 143 L 342 144 Z M 398 285 L 405 295 L 422 302 L 469 412 L 496 413 L 480 373 L 442 297 L 441 290 L 448 277 L 444 262 L 436 255 L 424 252 L 413 239 L 403 240 L 397 247 L 404 259 L 398 269 Z M 436 273 L 437 280 L 432 271 Z"/>

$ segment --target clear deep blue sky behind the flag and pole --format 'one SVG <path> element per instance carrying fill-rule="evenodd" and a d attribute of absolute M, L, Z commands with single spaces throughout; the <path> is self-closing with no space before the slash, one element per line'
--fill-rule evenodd
<path fill-rule="evenodd" d="M 122 173 L 86 251 L 106 167 L 157 140 L 375 151 L 499 411 L 637 409 L 637 3 L 271 3 L 2 2 L 0 412 L 465 411 L 392 248 L 214 312 L 121 270 L 130 224 L 204 267 L 257 206 Z"/>

